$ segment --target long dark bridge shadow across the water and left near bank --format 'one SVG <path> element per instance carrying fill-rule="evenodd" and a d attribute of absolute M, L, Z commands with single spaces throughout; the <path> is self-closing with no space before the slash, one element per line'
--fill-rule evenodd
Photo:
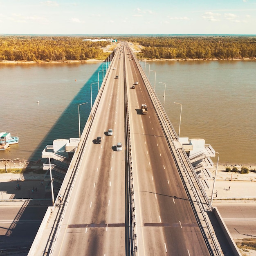
<path fill-rule="evenodd" d="M 47 135 L 38 144 L 34 153 L 28 159 L 27 170 L 33 170 L 32 165 L 35 160 L 41 159 L 42 151 L 45 146 L 52 145 L 54 139 L 70 139 L 79 137 L 79 117 L 78 117 L 78 105 L 88 102 L 80 106 L 80 124 L 81 133 L 86 124 L 88 116 L 91 110 L 91 92 L 90 85 L 92 85 L 92 105 L 98 94 L 98 72 L 102 71 L 102 65 L 104 65 L 104 76 L 106 75 L 106 64 L 109 62 L 106 60 L 101 63 L 97 70 L 90 76 L 88 81 L 83 85 L 81 90 L 74 96 L 74 99 L 69 103 L 67 108 L 63 111 L 61 116 L 55 122 L 54 126 L 49 130 Z M 85 66 L 86 68 L 86 66 Z M 102 72 L 99 73 L 99 87 L 102 84 Z M 44 159 L 41 160 L 44 162 Z M 45 171 L 46 172 L 46 171 Z M 42 177 L 42 176 L 40 176 Z M 23 201 L 18 203 L 12 208 L 11 212 L 14 213 L 14 219 L 7 225 L 1 225 L 0 228 L 0 249 L 4 250 L 9 255 L 13 252 L 19 252 L 19 255 L 27 255 L 33 240 L 36 236 L 38 228 L 40 227 L 41 220 L 45 215 L 47 207 L 52 205 L 51 193 L 45 192 L 45 184 L 41 185 L 41 180 L 25 180 L 20 182 L 22 189 L 17 190 L 17 181 L 4 182 L 7 188 L 2 191 L 6 191 L 7 194 L 11 194 L 11 198 L 33 198 L 38 201 Z M 28 178 L 29 179 L 29 178 Z M 32 194 L 32 189 L 36 187 L 37 193 Z M 30 193 L 30 194 L 29 194 Z M 57 193 L 54 194 L 56 198 Z M 40 199 L 44 199 L 41 200 Z M 47 200 L 49 199 L 49 200 Z M 7 217 L 8 219 L 8 217 Z"/>

